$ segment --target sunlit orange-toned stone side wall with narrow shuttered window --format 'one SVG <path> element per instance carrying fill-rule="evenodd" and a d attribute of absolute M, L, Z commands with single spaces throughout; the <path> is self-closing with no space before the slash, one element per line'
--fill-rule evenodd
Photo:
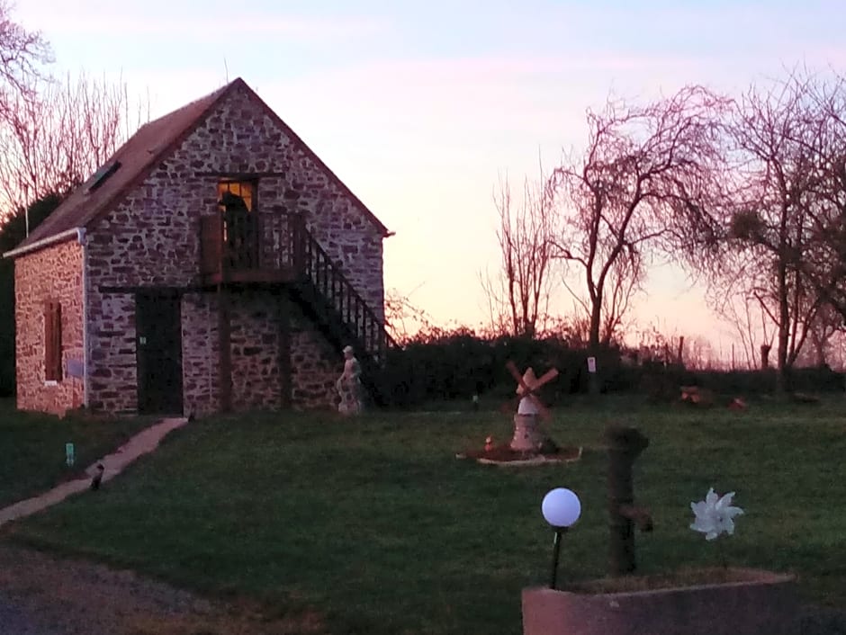
<path fill-rule="evenodd" d="M 45 381 L 44 305 L 61 306 L 62 379 Z M 67 360 L 83 360 L 82 246 L 76 240 L 23 255 L 14 263 L 17 406 L 62 415 L 81 406 L 83 380 L 67 377 Z"/>

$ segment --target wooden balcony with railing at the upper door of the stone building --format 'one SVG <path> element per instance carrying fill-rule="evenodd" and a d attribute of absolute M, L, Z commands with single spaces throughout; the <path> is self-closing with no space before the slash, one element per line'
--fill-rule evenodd
<path fill-rule="evenodd" d="M 200 219 L 200 275 L 203 284 L 292 282 L 300 217 L 223 214 Z"/>

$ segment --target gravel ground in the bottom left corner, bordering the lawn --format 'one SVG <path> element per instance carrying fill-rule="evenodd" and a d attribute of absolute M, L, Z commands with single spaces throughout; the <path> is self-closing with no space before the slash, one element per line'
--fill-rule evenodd
<path fill-rule="evenodd" d="M 284 635 L 323 632 L 312 614 L 267 620 L 156 580 L 0 541 L 0 635 Z"/>

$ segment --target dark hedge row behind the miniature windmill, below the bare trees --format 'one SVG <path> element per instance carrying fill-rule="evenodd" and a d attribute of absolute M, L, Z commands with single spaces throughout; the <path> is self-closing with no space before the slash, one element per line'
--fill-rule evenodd
<path fill-rule="evenodd" d="M 537 376 L 556 368 L 559 376 L 548 383 L 543 398 L 554 405 L 567 395 L 589 390 L 588 353 L 559 339 L 541 341 L 513 337 L 483 338 L 457 332 L 411 341 L 388 361 L 388 391 L 395 405 L 413 407 L 432 400 L 470 399 L 473 394 L 508 399 L 517 382 L 506 368 L 510 361 L 520 371 L 532 366 Z M 628 365 L 617 349 L 599 353 L 601 390 L 638 392 L 653 398 L 679 398 L 680 386 L 692 385 L 732 397 L 774 391 L 776 371 L 687 371 L 663 362 Z M 844 375 L 828 368 L 792 371 L 792 389 L 802 392 L 843 391 Z"/>

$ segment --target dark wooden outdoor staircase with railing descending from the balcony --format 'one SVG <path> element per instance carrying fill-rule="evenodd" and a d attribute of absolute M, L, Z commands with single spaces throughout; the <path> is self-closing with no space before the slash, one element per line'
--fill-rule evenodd
<path fill-rule="evenodd" d="M 393 401 L 389 361 L 401 351 L 352 283 L 306 228 L 302 216 L 291 224 L 293 300 L 332 344 L 356 350 L 362 383 L 379 406 Z"/>

